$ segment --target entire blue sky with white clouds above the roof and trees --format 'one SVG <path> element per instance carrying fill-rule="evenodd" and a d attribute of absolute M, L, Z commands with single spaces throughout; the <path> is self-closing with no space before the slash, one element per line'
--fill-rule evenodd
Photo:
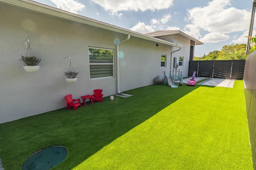
<path fill-rule="evenodd" d="M 223 45 L 247 43 L 252 10 L 252 0 L 34 1 L 139 33 L 183 31 L 204 43 L 196 45 L 196 57 Z"/>

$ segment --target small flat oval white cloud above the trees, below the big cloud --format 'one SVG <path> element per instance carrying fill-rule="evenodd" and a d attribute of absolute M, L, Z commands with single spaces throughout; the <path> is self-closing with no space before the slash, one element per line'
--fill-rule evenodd
<path fill-rule="evenodd" d="M 226 41 L 229 39 L 228 35 L 225 35 L 224 33 L 208 33 L 204 35 L 203 38 L 200 39 L 203 43 L 218 43 L 221 41 Z"/>

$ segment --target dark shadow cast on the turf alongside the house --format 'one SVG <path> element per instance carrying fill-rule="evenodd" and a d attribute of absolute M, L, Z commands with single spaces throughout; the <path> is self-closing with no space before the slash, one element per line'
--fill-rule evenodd
<path fill-rule="evenodd" d="M 198 87 L 150 85 L 126 91 L 134 95 L 129 98 L 106 97 L 102 103 L 82 104 L 76 111 L 63 108 L 0 124 L 4 169 L 21 169 L 31 154 L 54 145 L 68 150 L 66 159 L 54 169 L 72 169 Z"/>

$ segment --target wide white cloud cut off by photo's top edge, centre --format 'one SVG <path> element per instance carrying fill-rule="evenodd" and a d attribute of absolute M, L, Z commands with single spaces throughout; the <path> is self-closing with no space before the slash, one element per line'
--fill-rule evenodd
<path fill-rule="evenodd" d="M 162 10 L 172 6 L 174 0 L 92 0 L 96 4 L 102 6 L 105 10 L 114 13 L 118 11 L 146 11 L 146 10 Z"/>

